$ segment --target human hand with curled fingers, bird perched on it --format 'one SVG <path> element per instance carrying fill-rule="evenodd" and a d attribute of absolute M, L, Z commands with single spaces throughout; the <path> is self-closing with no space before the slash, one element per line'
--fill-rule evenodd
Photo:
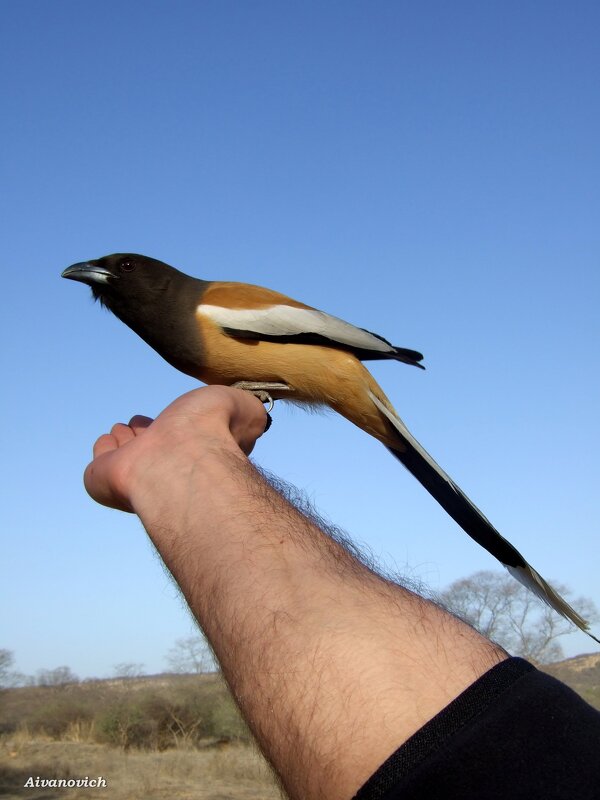
<path fill-rule="evenodd" d="M 208 452 L 244 458 L 266 427 L 265 409 L 249 392 L 206 386 L 178 397 L 152 420 L 136 415 L 94 444 L 84 474 L 88 494 L 102 505 L 136 512 L 135 496 L 149 469 L 172 475 Z"/>

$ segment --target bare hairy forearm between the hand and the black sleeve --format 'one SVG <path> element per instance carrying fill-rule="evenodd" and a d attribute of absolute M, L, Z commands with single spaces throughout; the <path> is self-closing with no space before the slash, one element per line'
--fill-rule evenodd
<path fill-rule="evenodd" d="M 289 795 L 349 798 L 502 651 L 356 561 L 233 440 L 198 444 L 139 470 L 133 510 Z"/>

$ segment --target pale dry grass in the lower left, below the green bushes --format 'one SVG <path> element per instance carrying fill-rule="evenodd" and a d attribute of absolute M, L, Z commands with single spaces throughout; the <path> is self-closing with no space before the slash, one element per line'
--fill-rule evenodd
<path fill-rule="evenodd" d="M 81 732 L 74 732 L 73 738 Z M 83 737 L 80 737 L 83 738 Z M 102 776 L 107 788 L 24 788 L 32 776 Z M 85 741 L 53 741 L 20 731 L 0 739 L 3 800 L 281 800 L 262 756 L 251 746 L 124 753 Z"/>

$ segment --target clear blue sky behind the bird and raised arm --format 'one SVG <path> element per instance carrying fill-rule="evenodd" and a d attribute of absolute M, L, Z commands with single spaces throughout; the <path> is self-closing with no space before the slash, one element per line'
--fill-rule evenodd
<path fill-rule="evenodd" d="M 193 386 L 60 271 L 142 252 L 425 353 L 373 371 L 547 578 L 600 605 L 592 2 L 5 2 L 0 647 L 165 668 L 193 632 L 94 439 Z M 256 461 L 434 590 L 496 563 L 375 441 L 279 404 Z M 569 653 L 590 651 L 583 634 Z"/>

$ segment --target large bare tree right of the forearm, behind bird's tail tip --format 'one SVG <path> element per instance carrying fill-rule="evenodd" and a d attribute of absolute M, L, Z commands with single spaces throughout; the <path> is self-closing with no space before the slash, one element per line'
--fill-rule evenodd
<path fill-rule="evenodd" d="M 591 600 L 573 599 L 566 586 L 559 583 L 553 586 L 586 619 L 599 619 Z M 455 581 L 438 599 L 457 617 L 513 655 L 538 664 L 562 658 L 563 650 L 557 640 L 577 630 L 510 575 L 499 572 L 476 572 Z"/>

